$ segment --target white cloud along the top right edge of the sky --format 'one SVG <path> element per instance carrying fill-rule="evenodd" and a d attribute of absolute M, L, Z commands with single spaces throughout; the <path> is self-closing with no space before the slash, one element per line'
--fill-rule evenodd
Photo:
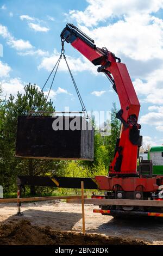
<path fill-rule="evenodd" d="M 112 17 L 132 16 L 135 13 L 150 14 L 162 8 L 162 0 L 87 0 L 89 5 L 84 11 L 70 10 L 66 15 L 75 20 L 78 25 L 87 27 L 96 26 L 98 22 L 106 21 Z"/>

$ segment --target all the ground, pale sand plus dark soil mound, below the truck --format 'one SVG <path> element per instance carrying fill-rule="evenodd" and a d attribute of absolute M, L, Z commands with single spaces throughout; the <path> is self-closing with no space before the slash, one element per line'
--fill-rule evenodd
<path fill-rule="evenodd" d="M 80 204 L 66 204 L 59 200 L 23 203 L 23 217 L 15 216 L 16 203 L 1 204 L 0 245 L 86 245 L 92 241 L 94 245 L 163 245 L 163 223 L 154 218 L 120 220 L 93 214 L 93 208 L 98 209 L 98 206 L 85 205 L 87 234 L 83 236 Z"/>

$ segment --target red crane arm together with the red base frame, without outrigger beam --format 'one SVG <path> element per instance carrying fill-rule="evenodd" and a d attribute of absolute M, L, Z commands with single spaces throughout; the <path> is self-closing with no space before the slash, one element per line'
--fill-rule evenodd
<path fill-rule="evenodd" d="M 118 144 L 121 151 L 119 150 L 116 152 L 114 160 L 110 164 L 109 174 L 111 174 L 111 177 L 95 177 L 99 190 L 115 190 L 115 186 L 118 185 L 123 191 L 156 191 L 159 187 L 157 184 L 163 184 L 163 177 L 141 178 L 137 176 L 136 178 L 137 151 L 139 145 L 131 142 L 129 135 L 134 125 L 136 125 L 137 130 L 140 129 L 140 125 L 137 124 L 140 103 L 137 99 L 126 65 L 120 62 L 117 63 L 117 58 L 114 54 L 99 49 L 95 44 L 92 45 L 93 40 L 88 38 L 84 33 L 82 34 L 83 37 L 81 34 L 82 32 L 79 31 L 78 28 L 69 24 L 68 27 L 66 26 L 64 31 L 62 31 L 61 37 L 65 38 L 67 42 L 70 42 L 74 48 L 82 53 L 83 56 L 89 59 L 93 64 L 96 63 L 95 65 L 101 65 L 101 68 L 104 66 L 103 71 L 106 74 L 112 75 L 121 104 L 121 118 L 124 123 L 127 124 L 127 126 L 122 126 L 120 142 Z M 135 117 L 135 123 L 132 123 L 129 120 L 131 116 Z M 116 167 L 119 155 L 122 156 L 122 161 L 121 164 Z"/>

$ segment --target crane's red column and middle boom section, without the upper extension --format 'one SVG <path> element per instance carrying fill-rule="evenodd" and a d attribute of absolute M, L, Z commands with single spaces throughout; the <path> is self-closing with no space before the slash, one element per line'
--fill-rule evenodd
<path fill-rule="evenodd" d="M 130 115 L 135 114 L 137 119 L 139 117 L 140 104 L 137 99 L 134 86 L 130 80 L 127 68 L 125 64 L 112 62 L 109 70 L 114 77 L 117 94 L 120 99 L 121 109 L 123 109 L 122 118 L 127 122 Z M 135 174 L 137 172 L 137 150 L 138 146 L 134 145 L 129 140 L 129 132 L 132 129 L 130 125 L 127 129 L 122 130 L 119 147 L 122 147 L 122 164 L 121 174 Z M 110 173 L 114 172 L 114 166 L 118 152 L 116 153 L 114 160 L 110 164 Z"/>

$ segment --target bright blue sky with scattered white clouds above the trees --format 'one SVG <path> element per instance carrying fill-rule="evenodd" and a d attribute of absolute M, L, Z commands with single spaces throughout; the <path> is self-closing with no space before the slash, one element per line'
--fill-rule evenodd
<path fill-rule="evenodd" d="M 163 143 L 162 0 L 0 0 L 0 81 L 4 95 L 23 92 L 28 82 L 40 88 L 60 54 L 60 32 L 74 23 L 126 63 L 141 102 L 139 122 L 147 144 Z M 97 67 L 70 44 L 65 54 L 87 110 L 110 111 L 117 95 Z M 49 86 L 49 85 L 48 85 Z M 45 89 L 48 90 L 48 86 Z M 62 60 L 51 98 L 57 110 L 81 110 Z"/>

